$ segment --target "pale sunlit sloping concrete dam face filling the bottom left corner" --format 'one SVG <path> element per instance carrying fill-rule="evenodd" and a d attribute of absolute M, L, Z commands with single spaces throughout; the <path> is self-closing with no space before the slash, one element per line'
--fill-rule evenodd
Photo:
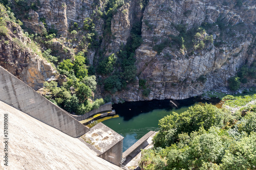
<path fill-rule="evenodd" d="M 52 128 L 0 101 L 0 131 L 4 138 L 4 114 L 8 114 L 8 167 L 3 164 L 4 145 L 0 144 L 0 169 L 119 169 L 97 157 L 78 138 Z"/>

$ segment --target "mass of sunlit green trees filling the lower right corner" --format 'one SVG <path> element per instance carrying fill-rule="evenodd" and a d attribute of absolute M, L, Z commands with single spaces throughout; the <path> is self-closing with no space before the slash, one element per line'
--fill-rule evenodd
<path fill-rule="evenodd" d="M 229 106 L 255 94 L 227 96 Z M 255 169 L 256 105 L 236 113 L 206 104 L 159 120 L 154 148 L 142 151 L 142 169 Z"/>

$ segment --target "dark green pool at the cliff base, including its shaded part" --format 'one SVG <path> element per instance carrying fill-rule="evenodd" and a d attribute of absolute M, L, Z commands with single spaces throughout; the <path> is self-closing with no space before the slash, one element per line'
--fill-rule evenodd
<path fill-rule="evenodd" d="M 131 147 L 137 140 L 149 131 L 158 131 L 158 121 L 172 112 L 181 113 L 189 106 L 202 104 L 197 98 L 176 101 L 176 108 L 169 100 L 153 100 L 143 102 L 125 102 L 123 104 L 113 105 L 116 114 L 119 117 L 103 121 L 102 123 L 110 127 L 123 139 L 123 152 Z M 211 101 L 216 103 L 218 101 Z M 207 102 L 208 103 L 208 102 Z"/>

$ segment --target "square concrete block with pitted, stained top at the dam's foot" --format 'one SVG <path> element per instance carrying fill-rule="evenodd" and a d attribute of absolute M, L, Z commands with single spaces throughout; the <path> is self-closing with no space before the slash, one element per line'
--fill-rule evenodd
<path fill-rule="evenodd" d="M 123 137 L 99 123 L 92 127 L 90 131 L 81 136 L 81 138 L 90 143 L 90 148 L 98 153 L 98 156 L 114 163 L 118 166 L 121 165 Z"/>

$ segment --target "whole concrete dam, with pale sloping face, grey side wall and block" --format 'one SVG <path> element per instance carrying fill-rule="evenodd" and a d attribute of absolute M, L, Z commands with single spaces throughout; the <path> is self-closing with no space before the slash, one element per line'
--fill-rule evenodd
<path fill-rule="evenodd" d="M 1 66 L 0 94 L 0 131 L 4 132 L 4 115 L 9 129 L 9 164 L 1 161 L 1 169 L 122 169 L 123 137 L 112 129 L 99 124 L 91 132 Z M 93 143 L 80 137 L 84 134 L 97 136 L 102 142 L 94 147 L 101 150 L 93 150 Z"/>

